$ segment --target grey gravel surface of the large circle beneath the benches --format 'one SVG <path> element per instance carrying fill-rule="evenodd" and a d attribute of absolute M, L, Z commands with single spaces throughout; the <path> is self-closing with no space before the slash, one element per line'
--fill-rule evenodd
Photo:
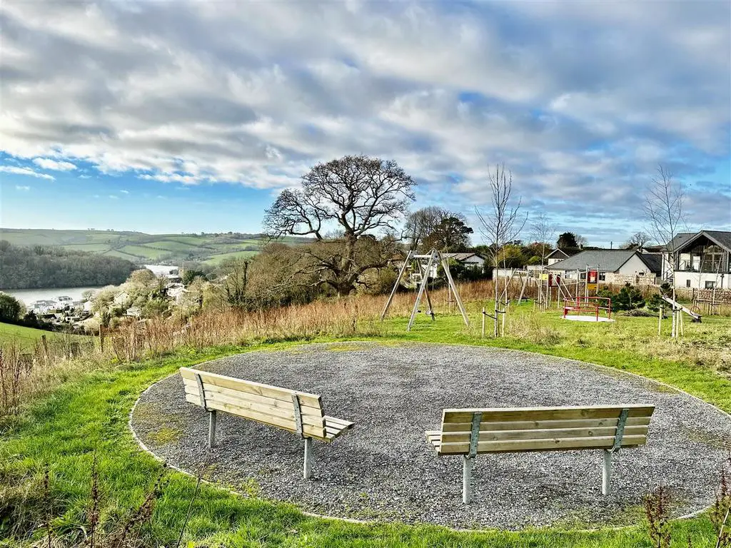
<path fill-rule="evenodd" d="M 314 441 L 302 478 L 303 442 L 284 430 L 219 413 L 206 478 L 244 495 L 357 520 L 452 528 L 593 528 L 642 519 L 643 495 L 664 484 L 674 515 L 713 502 L 731 449 L 731 416 L 647 378 L 569 359 L 428 343 L 309 344 L 205 362 L 200 369 L 322 396 L 325 414 L 354 421 L 332 444 Z M 482 454 L 473 498 L 462 503 L 461 457 L 437 457 L 424 430 L 442 408 L 654 403 L 648 444 L 614 460 L 601 493 L 602 452 Z M 208 418 L 186 403 L 179 375 L 148 388 L 132 429 L 151 452 L 196 473 Z"/>

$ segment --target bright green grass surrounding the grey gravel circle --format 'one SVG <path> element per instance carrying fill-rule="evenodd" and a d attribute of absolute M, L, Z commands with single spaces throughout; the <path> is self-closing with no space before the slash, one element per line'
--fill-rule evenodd
<path fill-rule="evenodd" d="M 471 310 L 481 303 L 472 303 Z M 529 313 L 523 305 L 508 321 L 507 336 L 501 340 L 480 339 L 479 326 L 463 327 L 457 316 L 438 316 L 432 324 L 420 316 L 411 333 L 405 332 L 404 318 L 390 319 L 393 340 L 420 340 L 433 343 L 467 343 L 537 351 L 609 365 L 655 378 L 698 395 L 731 411 L 731 380 L 710 366 L 686 359 L 657 357 L 667 354 L 665 343 L 654 342 L 657 319 L 618 318 L 616 324 L 575 324 L 561 320 L 558 313 Z M 471 315 L 474 318 L 474 313 Z M 713 321 L 711 321 L 713 320 Z M 706 320 L 704 319 L 704 322 Z M 715 324 L 715 325 L 714 325 Z M 686 335 L 705 341 L 705 359 L 713 358 L 715 346 L 729 336 L 730 319 L 709 319 L 705 324 L 686 324 Z M 403 330 L 403 331 L 402 331 Z M 690 332 L 690 333 L 689 333 Z M 513 333 L 515 336 L 510 336 Z M 518 337 L 519 335 L 519 337 Z M 351 337 L 349 339 L 363 339 Z M 329 338 L 317 341 L 333 340 Z M 643 343 L 644 341 L 644 343 Z M 107 364 L 102 370 L 70 378 L 50 396 L 39 400 L 14 429 L 0 441 L 0 484 L 28 484 L 15 495 L 0 496 L 0 539 L 7 534 L 7 508 L 23 499 L 26 507 L 39 507 L 42 473 L 48 463 L 56 528 L 67 537 L 79 533 L 88 509 L 90 468 L 96 449 L 102 477 L 104 516 L 120 520 L 131 506 L 139 504 L 145 490 L 161 470 L 161 464 L 140 451 L 127 427 L 129 410 L 146 387 L 173 373 L 182 365 L 252 350 L 282 349 L 294 343 L 258 344 L 246 347 L 219 347 L 205 351 L 181 349 L 162 359 L 134 364 Z M 666 341 L 667 342 L 667 341 Z M 638 350 L 645 345 L 644 350 Z M 670 346 L 683 342 L 667 343 Z M 677 357 L 677 356 L 676 356 Z M 152 535 L 159 545 L 175 546 L 194 491 L 194 479 L 168 473 L 154 514 Z M 15 498 L 14 498 L 15 497 Z M 4 514 L 4 512 L 6 512 Z M 25 516 L 31 520 L 31 515 Z M 4 521 L 3 521 L 4 520 Z M 15 519 L 15 526 L 23 523 Z M 675 543 L 694 547 L 711 545 L 713 530 L 707 517 L 673 523 Z M 42 536 L 38 532 L 35 540 Z M 463 533 L 436 526 L 400 524 L 355 524 L 307 517 L 292 506 L 257 498 L 243 498 L 216 487 L 203 485 L 194 502 L 185 539 L 198 547 L 571 547 L 618 548 L 651 547 L 643 528 L 586 532 L 569 529 L 526 530 L 519 533 L 488 530 Z M 27 539 L 26 545 L 31 545 Z M 4 544 L 3 544 L 4 543 Z M 18 539 L 0 540 L 0 546 L 16 547 Z M 21 544 L 22 545 L 22 544 Z M 183 544 L 185 546 L 185 544 Z"/>

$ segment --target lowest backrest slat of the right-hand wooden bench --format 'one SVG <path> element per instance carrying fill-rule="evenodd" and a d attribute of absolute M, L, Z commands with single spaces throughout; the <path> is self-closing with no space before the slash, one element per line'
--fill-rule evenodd
<path fill-rule="evenodd" d="M 622 438 L 622 447 L 643 445 L 647 441 L 645 435 L 626 435 Z M 573 451 L 580 449 L 610 449 L 614 444 L 614 436 L 602 438 L 557 438 L 543 440 L 512 441 L 480 441 L 478 453 L 512 453 L 525 451 Z M 467 454 L 468 442 L 456 442 L 439 446 L 439 454 Z"/>

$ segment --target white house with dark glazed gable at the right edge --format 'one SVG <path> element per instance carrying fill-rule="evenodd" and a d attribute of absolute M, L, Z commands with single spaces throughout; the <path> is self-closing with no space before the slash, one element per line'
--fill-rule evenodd
<path fill-rule="evenodd" d="M 731 232 L 676 235 L 664 246 L 662 278 L 675 287 L 731 289 Z"/>

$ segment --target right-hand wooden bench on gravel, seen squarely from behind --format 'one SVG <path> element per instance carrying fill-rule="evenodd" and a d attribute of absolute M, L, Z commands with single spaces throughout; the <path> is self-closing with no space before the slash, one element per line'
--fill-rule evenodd
<path fill-rule="evenodd" d="M 612 454 L 647 442 L 651 405 L 444 409 L 442 430 L 427 430 L 438 455 L 461 454 L 462 500 L 471 501 L 480 453 L 603 449 L 602 494 L 610 492 Z"/>

